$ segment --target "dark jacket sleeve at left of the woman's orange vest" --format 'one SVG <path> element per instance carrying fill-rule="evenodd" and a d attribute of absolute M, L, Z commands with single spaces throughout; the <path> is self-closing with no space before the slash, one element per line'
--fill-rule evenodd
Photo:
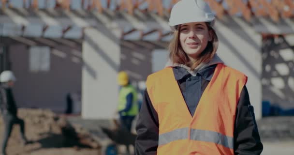
<path fill-rule="evenodd" d="M 135 141 L 135 155 L 156 155 L 158 147 L 159 121 L 147 90 L 140 109 L 136 124 L 137 138 Z"/>

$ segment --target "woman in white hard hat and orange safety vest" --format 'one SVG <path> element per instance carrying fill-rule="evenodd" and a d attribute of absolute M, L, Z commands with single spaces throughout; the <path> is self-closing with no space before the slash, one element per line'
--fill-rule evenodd
<path fill-rule="evenodd" d="M 260 155 L 247 77 L 215 54 L 215 17 L 203 0 L 180 0 L 166 68 L 147 78 L 136 155 Z"/>

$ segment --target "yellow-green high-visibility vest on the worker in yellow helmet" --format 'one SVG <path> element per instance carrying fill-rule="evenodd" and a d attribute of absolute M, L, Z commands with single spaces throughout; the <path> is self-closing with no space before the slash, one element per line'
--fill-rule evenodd
<path fill-rule="evenodd" d="M 129 93 L 132 93 L 132 108 L 127 111 L 123 112 L 123 116 L 136 116 L 139 113 L 139 107 L 138 107 L 138 99 L 137 99 L 137 92 L 135 88 L 132 85 L 124 86 L 119 91 L 118 96 L 118 110 L 123 110 L 127 106 L 127 95 Z"/>

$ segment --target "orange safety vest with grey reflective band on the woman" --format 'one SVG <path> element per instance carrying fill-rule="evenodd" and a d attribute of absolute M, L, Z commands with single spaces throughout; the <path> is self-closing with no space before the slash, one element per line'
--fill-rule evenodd
<path fill-rule="evenodd" d="M 193 116 L 171 67 L 147 78 L 159 119 L 157 155 L 234 155 L 235 111 L 247 82 L 241 72 L 218 64 Z"/>

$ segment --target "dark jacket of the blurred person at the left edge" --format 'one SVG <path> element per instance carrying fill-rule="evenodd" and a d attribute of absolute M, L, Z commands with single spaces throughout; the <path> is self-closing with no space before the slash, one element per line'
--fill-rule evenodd
<path fill-rule="evenodd" d="M 17 107 L 12 93 L 12 89 L 5 84 L 0 86 L 0 109 L 2 113 L 17 115 Z"/>

